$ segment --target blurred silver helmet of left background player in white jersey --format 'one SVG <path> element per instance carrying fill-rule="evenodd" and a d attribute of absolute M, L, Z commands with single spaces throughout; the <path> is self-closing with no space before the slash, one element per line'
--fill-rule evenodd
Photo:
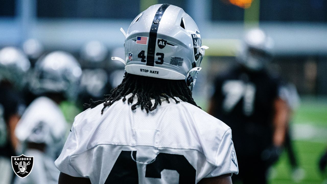
<path fill-rule="evenodd" d="M 62 92 L 66 98 L 74 99 L 81 74 L 74 56 L 63 51 L 51 52 L 36 62 L 30 89 L 37 95 Z"/>

